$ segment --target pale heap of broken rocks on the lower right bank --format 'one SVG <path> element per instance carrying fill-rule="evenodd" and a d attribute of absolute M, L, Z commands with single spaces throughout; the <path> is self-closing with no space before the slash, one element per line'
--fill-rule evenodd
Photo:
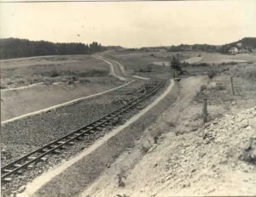
<path fill-rule="evenodd" d="M 152 167 L 160 173 L 162 187 L 169 189 L 224 183 L 228 171 L 255 173 L 256 108 L 224 115 L 195 132 L 177 136 L 167 151 L 166 160 Z"/>

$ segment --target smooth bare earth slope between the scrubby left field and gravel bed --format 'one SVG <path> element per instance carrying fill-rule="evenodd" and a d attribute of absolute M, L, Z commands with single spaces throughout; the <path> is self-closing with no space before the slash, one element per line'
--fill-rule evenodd
<path fill-rule="evenodd" d="M 113 81 L 112 77 L 105 77 L 105 80 L 106 82 L 59 83 L 48 86 L 39 84 L 16 90 L 3 90 L 1 92 L 1 121 L 43 110 L 76 98 L 102 93 L 124 84 L 124 82 Z"/>

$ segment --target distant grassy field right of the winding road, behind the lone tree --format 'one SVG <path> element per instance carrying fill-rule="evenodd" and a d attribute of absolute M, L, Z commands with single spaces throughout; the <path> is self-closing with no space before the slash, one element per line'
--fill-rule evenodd
<path fill-rule="evenodd" d="M 202 75 L 218 71 L 218 65 L 225 66 L 250 65 L 256 61 L 255 55 L 237 54 L 228 55 L 220 53 L 205 53 L 200 51 L 186 52 L 116 52 L 110 58 L 119 61 L 130 74 L 141 76 L 170 77 L 170 58 L 175 55 L 180 61 L 193 64 L 183 67 L 189 75 Z M 236 62 L 236 63 L 234 63 Z M 197 66 L 199 65 L 199 66 Z"/>

